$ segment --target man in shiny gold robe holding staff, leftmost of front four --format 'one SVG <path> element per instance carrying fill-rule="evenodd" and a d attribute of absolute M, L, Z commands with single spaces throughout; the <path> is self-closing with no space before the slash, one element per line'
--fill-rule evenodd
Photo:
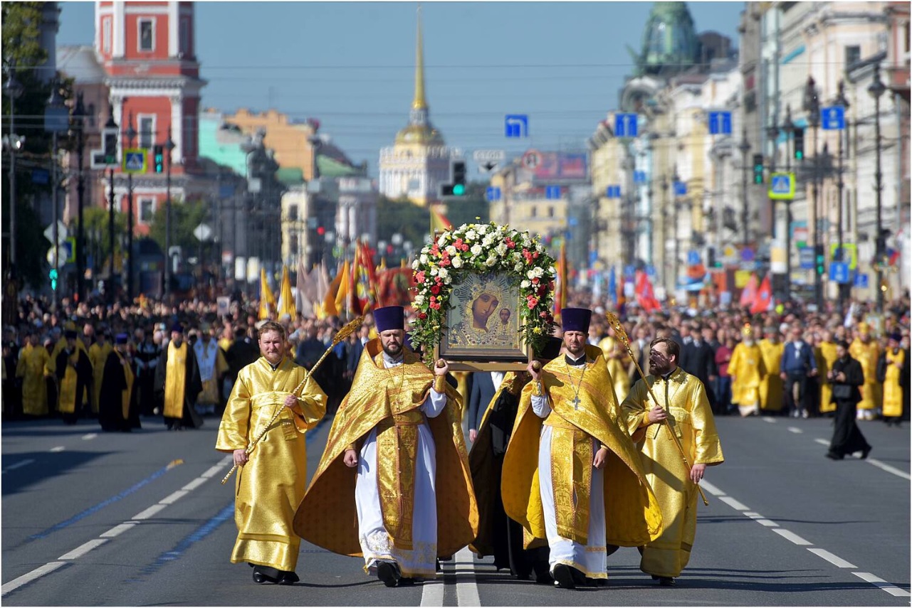
<path fill-rule="evenodd" d="M 254 566 L 258 583 L 299 580 L 301 539 L 293 520 L 307 487 L 306 432 L 326 414 L 326 393 L 285 356 L 285 341 L 285 327 L 275 321 L 260 329 L 262 356 L 237 375 L 215 441 L 215 449 L 233 454 L 240 467 L 234 480 L 237 540 L 231 562 Z M 264 430 L 248 455 L 246 448 Z"/>

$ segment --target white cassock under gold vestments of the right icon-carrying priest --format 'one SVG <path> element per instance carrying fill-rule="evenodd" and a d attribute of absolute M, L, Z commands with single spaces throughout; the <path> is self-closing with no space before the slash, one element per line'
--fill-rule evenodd
<path fill-rule="evenodd" d="M 583 358 L 581 368 L 586 365 Z M 551 406 L 547 398 L 532 396 L 532 409 L 536 416 L 541 418 L 551 414 Z M 538 481 L 542 494 L 542 507 L 544 508 L 544 531 L 548 536 L 548 545 L 551 555 L 548 563 L 551 572 L 554 566 L 563 563 L 573 566 L 586 576 L 607 572 L 607 553 L 605 550 L 605 470 L 591 467 L 592 485 L 589 492 L 589 533 L 588 544 L 565 539 L 557 534 L 557 519 L 554 516 L 554 487 L 551 484 L 551 435 L 552 427 L 542 425 L 542 436 L 538 444 Z M 592 453 L 598 451 L 599 444 L 592 439 Z M 593 551 L 595 550 L 595 551 Z"/>

